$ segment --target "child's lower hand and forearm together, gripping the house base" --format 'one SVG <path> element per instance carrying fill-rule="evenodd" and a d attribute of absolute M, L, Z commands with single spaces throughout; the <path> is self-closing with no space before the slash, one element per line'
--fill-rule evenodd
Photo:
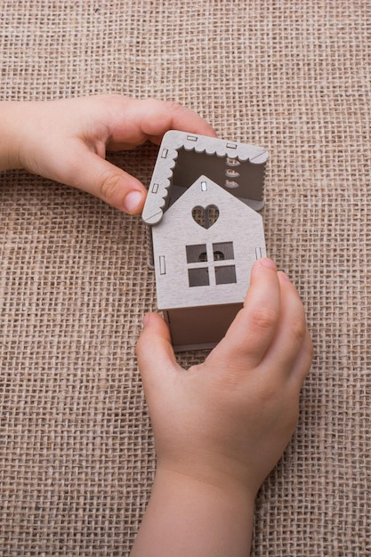
<path fill-rule="evenodd" d="M 246 557 L 254 497 L 294 431 L 311 367 L 299 295 L 262 259 L 244 309 L 203 364 L 178 366 L 156 314 L 137 351 L 157 472 L 132 557 Z"/>

